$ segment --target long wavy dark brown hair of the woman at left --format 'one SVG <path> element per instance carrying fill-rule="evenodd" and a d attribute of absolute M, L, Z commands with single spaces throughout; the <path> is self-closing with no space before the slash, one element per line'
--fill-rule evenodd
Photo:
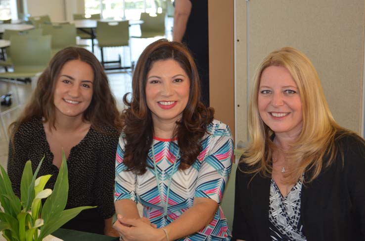
<path fill-rule="evenodd" d="M 32 118 L 43 118 L 49 122 L 49 127 L 55 128 L 55 106 L 53 102 L 56 80 L 65 63 L 71 60 L 81 60 L 89 64 L 94 73 L 93 93 L 89 107 L 83 114 L 83 119 L 91 123 L 92 128 L 103 132 L 99 126 L 108 126 L 118 131 L 122 130 L 120 113 L 115 99 L 110 91 L 108 78 L 96 57 L 88 50 L 79 47 L 68 47 L 60 50 L 50 60 L 48 67 L 38 79 L 37 87 L 20 117 L 9 126 L 10 139 L 13 141 L 20 124 Z"/>

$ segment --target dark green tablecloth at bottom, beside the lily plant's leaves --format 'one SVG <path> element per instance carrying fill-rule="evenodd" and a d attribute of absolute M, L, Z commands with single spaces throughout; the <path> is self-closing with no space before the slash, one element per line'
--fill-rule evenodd
<path fill-rule="evenodd" d="M 63 241 L 119 241 L 119 238 L 80 232 L 70 229 L 58 229 L 52 235 L 60 238 Z"/>

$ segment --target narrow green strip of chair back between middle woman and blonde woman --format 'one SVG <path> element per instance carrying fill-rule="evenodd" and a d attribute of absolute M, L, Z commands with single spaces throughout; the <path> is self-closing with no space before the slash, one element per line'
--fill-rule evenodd
<path fill-rule="evenodd" d="M 233 213 L 234 213 L 234 183 L 236 179 L 237 164 L 232 163 L 232 169 L 228 183 L 225 188 L 225 193 L 221 202 L 223 213 L 227 218 L 229 230 L 232 230 Z"/>

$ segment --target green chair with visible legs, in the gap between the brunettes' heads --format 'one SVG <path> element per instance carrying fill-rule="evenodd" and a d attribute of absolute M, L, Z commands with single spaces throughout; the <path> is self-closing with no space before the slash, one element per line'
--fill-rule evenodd
<path fill-rule="evenodd" d="M 129 46 L 129 21 L 115 21 L 115 22 L 97 22 L 96 38 L 98 46 L 101 50 L 101 64 L 104 69 L 129 69 L 131 67 L 122 67 L 122 59 L 119 55 L 118 61 L 104 61 L 103 48 L 105 47 L 119 47 Z M 131 59 L 131 48 L 130 59 Z M 118 67 L 106 68 L 105 64 L 119 63 Z"/>

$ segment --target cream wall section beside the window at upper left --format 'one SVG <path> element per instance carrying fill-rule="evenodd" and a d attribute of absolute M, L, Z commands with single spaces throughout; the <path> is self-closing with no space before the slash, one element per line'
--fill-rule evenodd
<path fill-rule="evenodd" d="M 31 16 L 48 14 L 52 22 L 65 21 L 65 0 L 25 0 Z"/>

